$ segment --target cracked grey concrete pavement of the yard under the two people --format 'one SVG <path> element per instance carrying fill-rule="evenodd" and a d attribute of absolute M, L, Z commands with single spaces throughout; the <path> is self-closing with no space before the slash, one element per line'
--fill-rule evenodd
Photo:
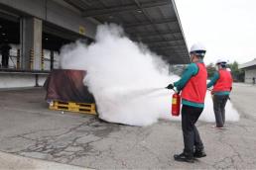
<path fill-rule="evenodd" d="M 95 169 L 256 169 L 256 87 L 234 85 L 238 123 L 224 130 L 198 123 L 207 156 L 194 164 L 173 159 L 183 148 L 179 122 L 108 124 L 49 111 L 44 95 L 42 89 L 0 92 L 1 151 Z"/>

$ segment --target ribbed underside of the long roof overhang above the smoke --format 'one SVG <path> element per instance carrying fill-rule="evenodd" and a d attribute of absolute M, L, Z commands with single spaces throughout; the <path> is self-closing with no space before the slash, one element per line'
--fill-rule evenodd
<path fill-rule="evenodd" d="M 174 0 L 64 0 L 84 18 L 116 23 L 132 41 L 143 42 L 171 64 L 190 62 Z"/>

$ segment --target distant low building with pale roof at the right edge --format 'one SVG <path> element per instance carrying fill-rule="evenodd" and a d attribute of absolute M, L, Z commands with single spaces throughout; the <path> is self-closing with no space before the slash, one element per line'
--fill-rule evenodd
<path fill-rule="evenodd" d="M 256 81 L 256 58 L 252 61 L 246 62 L 244 64 L 240 64 L 239 69 L 244 69 L 245 76 L 244 82 L 245 83 L 253 83 L 253 78 Z"/>

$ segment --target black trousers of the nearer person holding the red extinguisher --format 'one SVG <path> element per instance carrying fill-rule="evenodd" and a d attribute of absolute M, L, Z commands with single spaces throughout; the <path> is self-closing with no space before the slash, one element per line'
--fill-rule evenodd
<path fill-rule="evenodd" d="M 203 108 L 196 108 L 183 105 L 182 108 L 182 127 L 184 134 L 184 153 L 188 155 L 193 154 L 194 148 L 196 150 L 203 149 L 203 143 L 200 139 L 199 132 L 194 126 L 197 122 Z"/>

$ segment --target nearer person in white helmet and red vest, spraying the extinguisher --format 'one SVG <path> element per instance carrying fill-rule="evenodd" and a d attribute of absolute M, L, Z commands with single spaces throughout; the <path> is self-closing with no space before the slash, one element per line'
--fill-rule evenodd
<path fill-rule="evenodd" d="M 182 128 L 184 135 L 184 151 L 175 154 L 177 161 L 193 162 L 194 158 L 206 156 L 195 123 L 204 107 L 206 94 L 207 71 L 203 63 L 205 47 L 195 43 L 191 48 L 192 63 L 186 68 L 182 78 L 167 88 L 182 91 Z"/>

